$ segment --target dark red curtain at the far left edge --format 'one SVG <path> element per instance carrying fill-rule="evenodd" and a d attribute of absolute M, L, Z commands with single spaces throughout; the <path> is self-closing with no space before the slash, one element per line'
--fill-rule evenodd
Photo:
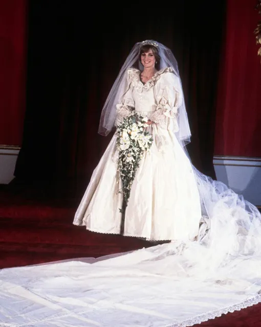
<path fill-rule="evenodd" d="M 27 0 L 0 2 L 0 144 L 21 145 L 26 102 Z"/>

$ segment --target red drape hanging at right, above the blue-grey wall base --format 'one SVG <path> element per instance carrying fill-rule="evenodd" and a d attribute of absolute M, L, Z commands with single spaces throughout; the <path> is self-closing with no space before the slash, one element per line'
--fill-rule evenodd
<path fill-rule="evenodd" d="M 261 157 L 261 64 L 256 0 L 227 1 L 226 45 L 216 110 L 215 155 Z"/>

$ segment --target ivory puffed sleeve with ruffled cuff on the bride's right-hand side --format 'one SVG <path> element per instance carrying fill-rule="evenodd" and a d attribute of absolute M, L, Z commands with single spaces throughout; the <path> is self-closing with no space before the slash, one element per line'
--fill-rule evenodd
<path fill-rule="evenodd" d="M 165 71 L 155 85 L 156 111 L 150 120 L 159 124 L 162 128 L 168 128 L 173 124 L 173 130 L 179 130 L 177 116 L 178 108 L 182 104 L 178 77 L 171 71 Z"/>

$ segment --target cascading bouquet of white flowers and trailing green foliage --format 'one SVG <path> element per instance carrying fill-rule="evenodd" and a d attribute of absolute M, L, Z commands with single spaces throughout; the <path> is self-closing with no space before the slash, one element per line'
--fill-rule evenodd
<path fill-rule="evenodd" d="M 122 180 L 124 207 L 127 206 L 139 162 L 153 142 L 150 133 L 145 130 L 147 121 L 146 117 L 141 117 L 134 111 L 117 127 L 118 171 Z"/>

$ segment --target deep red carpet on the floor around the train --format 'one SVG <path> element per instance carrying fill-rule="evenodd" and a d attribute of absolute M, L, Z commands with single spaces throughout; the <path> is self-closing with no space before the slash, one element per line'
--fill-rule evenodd
<path fill-rule="evenodd" d="M 91 233 L 72 225 L 77 201 L 0 190 L 0 268 L 56 260 L 99 257 L 151 246 L 132 237 Z M 50 195 L 50 194 L 49 194 Z M 261 304 L 222 315 L 205 327 L 261 327 Z"/>

